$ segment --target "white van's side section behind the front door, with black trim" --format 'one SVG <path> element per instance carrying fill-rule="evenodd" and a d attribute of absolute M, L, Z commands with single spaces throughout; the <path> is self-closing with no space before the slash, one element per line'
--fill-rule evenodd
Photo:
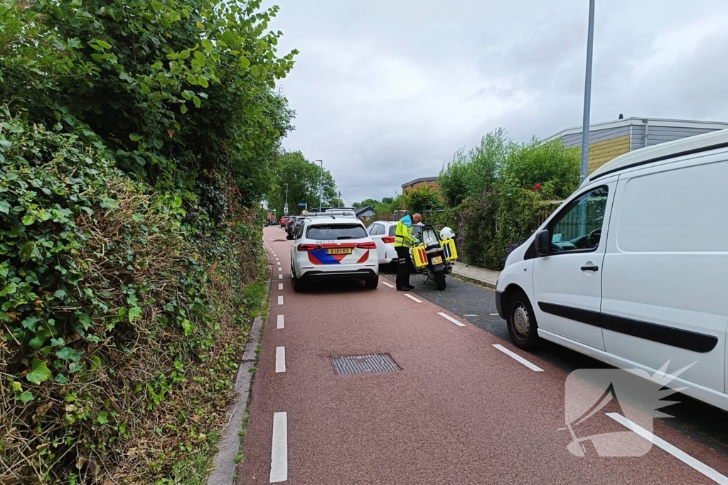
<path fill-rule="evenodd" d="M 620 175 L 604 258 L 606 351 L 724 390 L 728 154 Z"/>

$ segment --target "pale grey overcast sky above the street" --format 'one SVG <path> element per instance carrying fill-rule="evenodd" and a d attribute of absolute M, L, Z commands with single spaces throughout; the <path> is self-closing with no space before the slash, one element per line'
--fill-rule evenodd
<path fill-rule="evenodd" d="M 394 196 L 498 127 L 516 141 L 582 122 L 588 0 L 266 0 L 284 142 L 355 202 Z M 728 121 L 727 0 L 596 0 L 593 123 Z"/>

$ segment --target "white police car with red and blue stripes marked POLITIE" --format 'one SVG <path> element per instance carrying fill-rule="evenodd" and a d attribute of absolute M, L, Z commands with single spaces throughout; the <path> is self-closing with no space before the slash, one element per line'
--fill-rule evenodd
<path fill-rule="evenodd" d="M 349 211 L 306 215 L 290 249 L 290 268 L 296 292 L 315 281 L 358 279 L 369 289 L 379 284 L 376 244 Z"/>

